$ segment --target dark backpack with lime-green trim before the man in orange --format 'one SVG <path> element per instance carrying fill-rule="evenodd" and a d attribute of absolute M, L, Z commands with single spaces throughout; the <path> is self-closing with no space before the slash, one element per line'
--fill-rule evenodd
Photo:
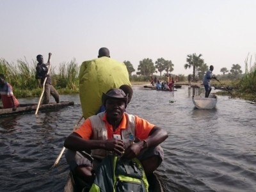
<path fill-rule="evenodd" d="M 109 154 L 96 170 L 89 192 L 148 192 L 148 181 L 140 161 Z"/>

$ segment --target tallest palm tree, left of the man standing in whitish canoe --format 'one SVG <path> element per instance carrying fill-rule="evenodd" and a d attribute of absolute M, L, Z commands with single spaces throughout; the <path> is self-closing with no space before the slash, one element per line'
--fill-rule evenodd
<path fill-rule="evenodd" d="M 184 65 L 185 69 L 193 67 L 193 81 L 195 81 L 195 77 L 197 76 L 198 67 L 201 67 L 204 64 L 204 60 L 200 58 L 201 56 L 202 54 L 199 54 L 198 56 L 196 56 L 195 53 L 188 54 L 188 58 L 186 60 L 187 63 Z"/>

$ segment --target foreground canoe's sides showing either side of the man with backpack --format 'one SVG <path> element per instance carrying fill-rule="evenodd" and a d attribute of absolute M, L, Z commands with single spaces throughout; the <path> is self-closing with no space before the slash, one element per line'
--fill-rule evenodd
<path fill-rule="evenodd" d="M 152 174 L 152 177 L 148 179 L 149 189 L 148 192 L 164 192 L 163 186 L 158 178 L 156 173 Z M 69 172 L 67 183 L 64 187 L 64 192 L 80 192 L 81 190 L 77 190 L 76 186 L 74 185 L 74 179 L 72 177 L 72 173 Z M 86 192 L 84 190 L 84 192 Z M 134 191 L 135 192 L 135 191 Z"/>

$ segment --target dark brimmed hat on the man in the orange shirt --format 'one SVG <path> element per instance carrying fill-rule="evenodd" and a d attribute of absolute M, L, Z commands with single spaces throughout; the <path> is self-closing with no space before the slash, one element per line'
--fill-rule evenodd
<path fill-rule="evenodd" d="M 106 93 L 102 93 L 102 104 L 104 104 L 104 106 L 106 105 L 106 100 L 108 99 L 124 100 L 126 107 L 128 102 L 128 94 L 125 95 L 123 90 L 115 88 L 108 90 Z"/>

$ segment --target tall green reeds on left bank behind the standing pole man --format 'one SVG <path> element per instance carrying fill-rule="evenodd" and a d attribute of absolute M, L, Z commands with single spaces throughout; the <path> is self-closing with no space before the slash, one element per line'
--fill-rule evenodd
<path fill-rule="evenodd" d="M 3 58 L 0 59 L 0 73 L 6 77 L 6 82 L 12 84 L 16 97 L 35 97 L 42 92 L 40 79 L 35 79 L 37 61 L 29 63 L 26 58 L 17 60 L 16 63 L 8 63 Z M 69 63 L 61 63 L 56 74 L 56 68 L 51 68 L 52 84 L 61 93 L 78 92 L 79 67 L 76 60 Z M 67 90 L 67 91 L 65 91 Z"/>

